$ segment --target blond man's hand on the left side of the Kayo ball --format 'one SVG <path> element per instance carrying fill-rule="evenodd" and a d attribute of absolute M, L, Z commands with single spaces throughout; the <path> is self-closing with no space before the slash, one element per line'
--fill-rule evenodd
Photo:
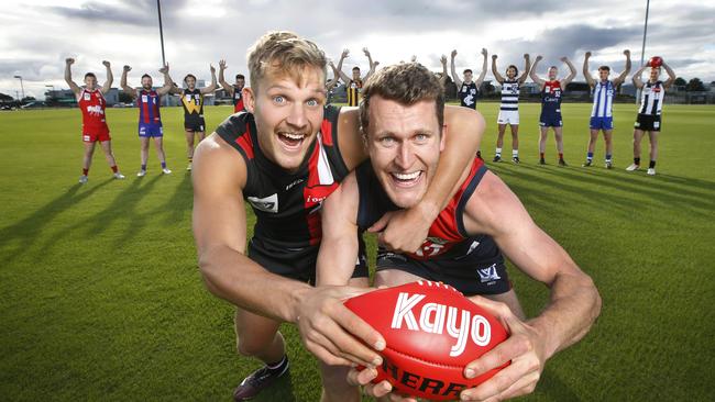
<path fill-rule="evenodd" d="M 350 311 L 346 299 L 370 292 L 372 288 L 314 288 L 297 305 L 296 323 L 306 348 L 330 366 L 382 364 L 375 350 L 385 348 L 385 339 L 370 324 Z M 366 345 L 373 345 L 374 349 Z"/>

